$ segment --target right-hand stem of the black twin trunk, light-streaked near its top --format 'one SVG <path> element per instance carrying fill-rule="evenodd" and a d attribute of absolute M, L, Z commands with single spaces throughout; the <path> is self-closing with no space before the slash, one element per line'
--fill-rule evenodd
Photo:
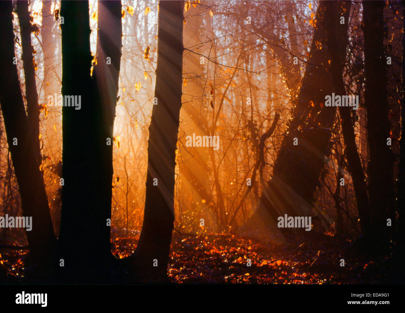
<path fill-rule="evenodd" d="M 122 48 L 122 5 L 121 1 L 98 2 L 97 30 L 97 64 L 93 71 L 96 84 L 97 109 L 101 118 L 98 120 L 98 140 L 100 140 L 100 168 L 97 174 L 99 184 L 98 196 L 101 206 L 98 214 L 102 216 L 104 225 L 100 227 L 98 237 L 104 255 L 112 256 L 110 244 L 110 226 L 106 226 L 107 218 L 111 219 L 111 197 L 113 181 L 113 126 L 115 106 L 117 105 L 118 79 L 121 64 Z M 107 62 L 107 58 L 108 62 Z M 110 62 L 111 61 L 111 62 Z M 107 138 L 111 145 L 107 145 Z"/>

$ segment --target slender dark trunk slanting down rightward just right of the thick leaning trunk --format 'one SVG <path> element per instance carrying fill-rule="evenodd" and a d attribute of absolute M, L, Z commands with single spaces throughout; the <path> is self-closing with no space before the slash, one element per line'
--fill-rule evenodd
<path fill-rule="evenodd" d="M 340 43 L 343 44 L 342 42 Z M 333 27 L 331 27 L 330 32 L 328 32 L 328 46 L 330 48 L 330 71 L 332 74 L 332 82 L 335 94 L 343 96 L 346 95 L 345 83 L 342 77 L 343 68 L 345 67 L 346 54 L 339 55 L 338 53 L 340 47 L 338 41 L 336 40 L 335 29 L 333 29 Z M 347 46 L 347 37 L 345 38 L 344 46 Z M 370 220 L 369 199 L 367 195 L 367 185 L 364 179 L 364 171 L 357 151 L 351 111 L 352 107 L 339 107 L 343 139 L 346 146 L 345 155 L 347 158 L 349 172 L 352 175 L 358 214 L 360 217 L 360 225 L 362 231 L 365 231 Z"/>

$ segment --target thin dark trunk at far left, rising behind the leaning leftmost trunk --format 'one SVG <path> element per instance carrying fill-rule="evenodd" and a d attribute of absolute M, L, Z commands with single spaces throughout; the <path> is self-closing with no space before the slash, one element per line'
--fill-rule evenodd
<path fill-rule="evenodd" d="M 39 106 L 35 82 L 35 59 L 32 55 L 31 33 L 33 32 L 32 17 L 28 11 L 28 1 L 17 1 L 16 12 L 21 32 L 21 50 L 26 84 L 27 116 L 30 124 L 32 142 L 38 162 L 41 162 L 39 145 Z"/>

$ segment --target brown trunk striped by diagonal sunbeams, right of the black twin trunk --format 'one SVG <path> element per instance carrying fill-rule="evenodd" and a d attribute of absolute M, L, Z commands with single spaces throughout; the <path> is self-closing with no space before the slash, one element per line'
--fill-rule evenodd
<path fill-rule="evenodd" d="M 174 223 L 175 151 L 179 131 L 184 1 L 160 1 L 158 64 L 148 141 L 145 213 L 141 237 L 129 258 L 137 278 L 162 281 Z"/>

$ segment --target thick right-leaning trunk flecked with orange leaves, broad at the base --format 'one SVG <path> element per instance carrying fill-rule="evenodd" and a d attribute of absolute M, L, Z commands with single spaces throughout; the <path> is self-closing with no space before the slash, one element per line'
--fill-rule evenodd
<path fill-rule="evenodd" d="M 328 70 L 330 47 L 327 32 L 333 29 L 337 40 L 342 43 L 339 57 L 344 56 L 349 12 L 350 3 L 320 1 L 311 52 L 298 99 L 292 109 L 292 120 L 275 161 L 268 188 L 260 197 L 261 204 L 275 220 L 283 214 L 311 215 L 313 193 L 330 153 L 330 128 L 336 113 L 335 107 L 324 106 L 325 96 L 333 92 Z M 345 25 L 339 23 L 340 16 L 345 17 Z M 298 145 L 293 145 L 294 138 L 298 139 Z"/>

